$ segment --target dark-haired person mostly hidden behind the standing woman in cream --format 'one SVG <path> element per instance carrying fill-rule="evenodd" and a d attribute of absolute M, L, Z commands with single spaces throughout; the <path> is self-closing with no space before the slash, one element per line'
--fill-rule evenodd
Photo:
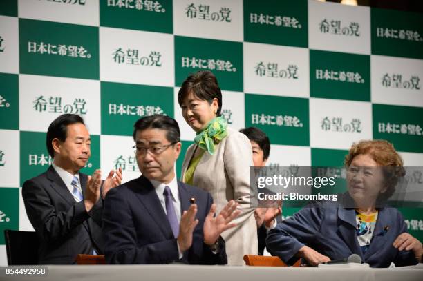
<path fill-rule="evenodd" d="M 267 159 L 269 159 L 270 155 L 270 140 L 269 137 L 256 127 L 249 127 L 240 130 L 241 133 L 246 135 L 248 139 L 250 139 L 251 146 L 252 146 L 252 154 L 253 154 L 253 164 L 254 167 L 264 167 Z M 274 204 L 277 204 L 278 207 L 274 207 Z M 272 204 L 266 203 L 266 207 L 257 208 L 254 211 L 254 217 L 256 217 L 257 223 L 257 239 L 259 241 L 259 255 L 263 255 L 265 247 L 266 247 L 266 236 L 267 236 L 267 229 L 269 229 L 272 225 L 276 224 L 277 222 L 281 222 L 281 200 L 277 200 L 277 202 L 272 202 Z M 267 207 L 267 206 L 272 207 Z"/>

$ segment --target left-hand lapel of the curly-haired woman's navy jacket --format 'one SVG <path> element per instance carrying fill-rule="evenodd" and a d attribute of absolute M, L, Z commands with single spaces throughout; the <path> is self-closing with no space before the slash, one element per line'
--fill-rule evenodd
<path fill-rule="evenodd" d="M 339 224 L 339 233 L 341 233 L 342 239 L 344 239 L 344 242 L 348 245 L 351 252 L 360 255 L 361 260 L 363 260 L 363 253 L 358 244 L 356 234 L 355 209 L 338 208 L 338 219 L 341 220 L 341 224 Z"/>

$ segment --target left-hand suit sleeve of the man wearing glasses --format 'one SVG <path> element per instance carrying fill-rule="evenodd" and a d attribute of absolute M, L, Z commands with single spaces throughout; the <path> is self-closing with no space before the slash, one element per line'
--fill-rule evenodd
<path fill-rule="evenodd" d="M 178 260 L 176 239 L 141 246 L 138 244 L 132 211 L 128 204 L 130 200 L 120 189 L 112 188 L 104 200 L 103 235 L 106 262 L 109 264 L 168 264 Z"/>

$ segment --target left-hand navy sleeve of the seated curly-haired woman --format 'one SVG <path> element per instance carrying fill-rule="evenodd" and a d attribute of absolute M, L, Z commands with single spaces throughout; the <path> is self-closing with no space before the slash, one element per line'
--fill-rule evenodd
<path fill-rule="evenodd" d="M 267 234 L 266 245 L 272 255 L 278 255 L 286 264 L 294 264 L 301 247 L 310 244 L 320 229 L 324 209 L 312 203 L 279 223 Z"/>

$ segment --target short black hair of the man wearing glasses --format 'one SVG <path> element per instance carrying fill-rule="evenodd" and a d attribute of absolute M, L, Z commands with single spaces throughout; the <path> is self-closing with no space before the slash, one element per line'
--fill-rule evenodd
<path fill-rule="evenodd" d="M 166 115 L 151 115 L 138 119 L 133 124 L 133 140 L 138 130 L 148 128 L 166 130 L 166 138 L 169 142 L 180 142 L 180 130 L 178 122 Z"/>

